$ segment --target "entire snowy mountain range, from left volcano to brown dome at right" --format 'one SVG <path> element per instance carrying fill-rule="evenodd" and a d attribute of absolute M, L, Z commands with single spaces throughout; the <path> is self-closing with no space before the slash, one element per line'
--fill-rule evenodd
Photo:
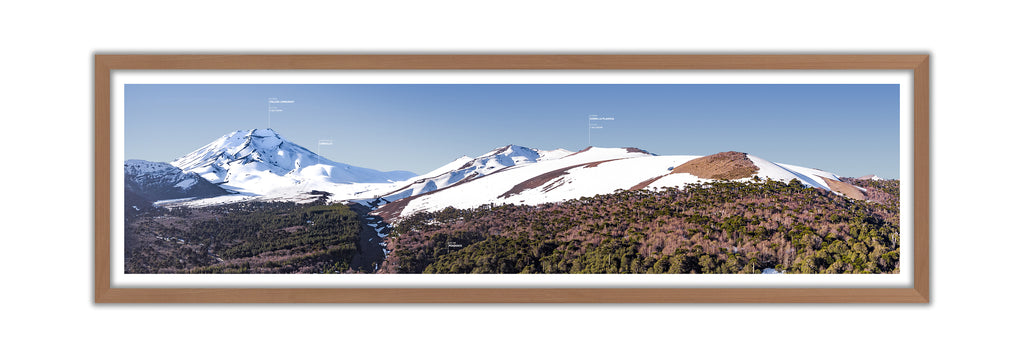
<path fill-rule="evenodd" d="M 389 218 L 447 207 L 538 205 L 616 190 L 656 190 L 756 177 L 797 180 L 805 186 L 862 197 L 862 188 L 842 183 L 834 173 L 735 151 L 656 155 L 635 147 L 587 147 L 573 152 L 509 144 L 474 158 L 463 155 L 414 176 L 410 172 L 381 172 L 333 162 L 285 140 L 270 129 L 228 133 L 172 165 L 240 192 L 187 205 L 254 198 L 302 200 L 317 190 L 330 192 L 332 200 L 379 207 L 379 213 Z"/>

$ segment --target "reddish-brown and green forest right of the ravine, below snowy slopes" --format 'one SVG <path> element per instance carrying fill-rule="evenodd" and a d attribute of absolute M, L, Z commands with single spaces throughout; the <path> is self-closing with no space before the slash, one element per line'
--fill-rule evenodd
<path fill-rule="evenodd" d="M 755 178 L 420 213 L 396 223 L 382 270 L 899 272 L 899 181 L 846 181 L 865 188 L 867 200 Z"/>

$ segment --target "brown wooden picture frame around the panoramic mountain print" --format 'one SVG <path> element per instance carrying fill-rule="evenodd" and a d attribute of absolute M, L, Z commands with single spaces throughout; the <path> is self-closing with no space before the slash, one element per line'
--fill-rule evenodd
<path fill-rule="evenodd" d="M 928 303 L 929 55 L 96 54 L 96 303 Z M 112 73 L 119 70 L 900 70 L 912 72 L 912 285 L 797 288 L 234 288 L 112 286 Z"/>

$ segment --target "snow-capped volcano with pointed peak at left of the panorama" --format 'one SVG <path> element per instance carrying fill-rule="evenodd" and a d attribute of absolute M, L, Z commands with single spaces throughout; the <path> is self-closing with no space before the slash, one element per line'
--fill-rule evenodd
<path fill-rule="evenodd" d="M 256 194 L 309 182 L 387 183 L 416 175 L 337 163 L 285 140 L 272 129 L 228 133 L 171 165 L 225 188 Z"/>

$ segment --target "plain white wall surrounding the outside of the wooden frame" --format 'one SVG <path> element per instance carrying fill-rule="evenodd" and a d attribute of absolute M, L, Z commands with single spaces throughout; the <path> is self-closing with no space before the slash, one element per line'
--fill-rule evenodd
<path fill-rule="evenodd" d="M 362 3 L 362 2 L 360 2 Z M 369 3 L 369 2 L 367 2 Z M 3 5 L 0 351 L 34 356 L 992 356 L 1021 310 L 1019 12 L 772 1 L 672 5 L 297 1 Z M 1013 35 L 1018 34 L 1018 35 Z M 92 304 L 94 51 L 930 52 L 929 305 L 309 306 Z M 991 179 L 981 179 L 991 178 Z M 1009 178 L 1008 178 L 1009 177 Z M 1009 179 L 1006 180 L 1005 178 Z M 11 230 L 13 228 L 13 230 Z M 5 354 L 6 355 L 6 354 Z M 20 356 L 20 355 L 11 355 Z"/>

